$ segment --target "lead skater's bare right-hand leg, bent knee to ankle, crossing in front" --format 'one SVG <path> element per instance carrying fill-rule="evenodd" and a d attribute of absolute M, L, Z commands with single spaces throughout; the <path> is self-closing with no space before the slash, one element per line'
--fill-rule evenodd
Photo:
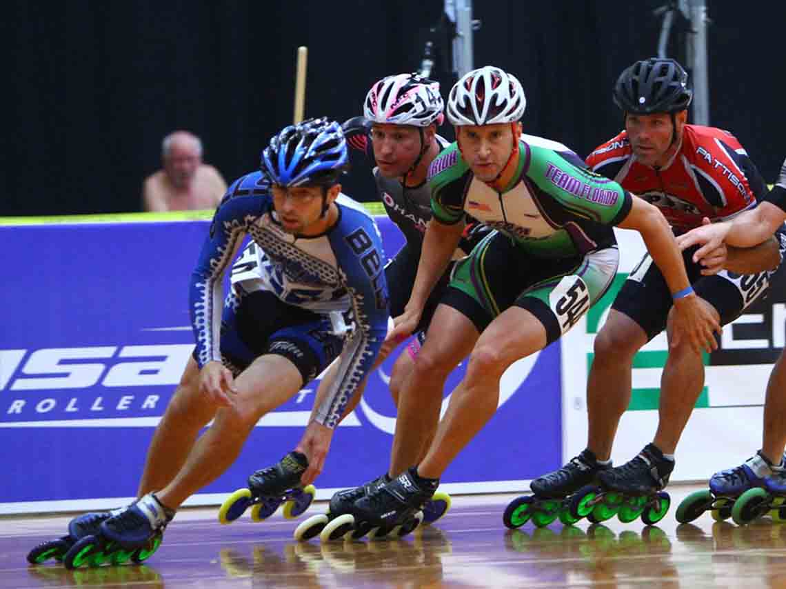
<path fill-rule="evenodd" d="M 185 499 L 218 478 L 237 458 L 259 418 L 291 398 L 303 385 L 296 366 L 279 355 L 263 355 L 234 382 L 233 407 L 218 411 L 210 429 L 196 440 L 177 476 L 156 493 L 160 502 L 177 509 Z"/>

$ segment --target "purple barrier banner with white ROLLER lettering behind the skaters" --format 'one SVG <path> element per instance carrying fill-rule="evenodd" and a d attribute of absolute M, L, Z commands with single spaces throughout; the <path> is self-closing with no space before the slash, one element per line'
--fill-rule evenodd
<path fill-rule="evenodd" d="M 388 254 L 402 244 L 377 219 Z M 0 337 L 0 503 L 132 496 L 153 429 L 193 347 L 188 281 L 207 222 L 0 227 L 6 263 Z M 387 469 L 395 408 L 387 375 L 334 436 L 318 488 Z M 461 380 L 463 366 L 446 391 Z M 292 449 L 318 382 L 254 429 L 206 493 L 244 485 Z M 505 399 L 443 482 L 523 480 L 561 462 L 560 349 L 503 379 Z"/>

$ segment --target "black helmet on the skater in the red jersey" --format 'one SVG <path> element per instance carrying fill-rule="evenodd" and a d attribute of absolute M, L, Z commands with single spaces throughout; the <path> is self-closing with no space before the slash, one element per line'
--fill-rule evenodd
<path fill-rule="evenodd" d="M 692 98 L 688 74 L 673 59 L 650 57 L 637 61 L 619 75 L 614 85 L 615 104 L 634 115 L 680 112 L 688 108 Z"/>

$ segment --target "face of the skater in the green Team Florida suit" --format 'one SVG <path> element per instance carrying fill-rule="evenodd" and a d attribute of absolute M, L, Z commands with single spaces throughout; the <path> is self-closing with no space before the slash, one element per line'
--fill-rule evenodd
<path fill-rule="evenodd" d="M 472 173 L 483 182 L 492 182 L 508 163 L 513 150 L 510 123 L 462 125 L 457 130 L 461 155 Z"/>

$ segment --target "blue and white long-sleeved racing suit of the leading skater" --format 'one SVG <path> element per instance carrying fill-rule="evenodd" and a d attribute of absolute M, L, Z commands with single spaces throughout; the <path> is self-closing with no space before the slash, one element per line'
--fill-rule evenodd
<path fill-rule="evenodd" d="M 215 212 L 191 277 L 190 312 L 200 369 L 224 362 L 236 374 L 262 354 L 284 355 L 316 377 L 339 353 L 340 370 L 316 419 L 335 427 L 371 370 L 387 333 L 387 283 L 379 230 L 351 198 L 336 199 L 339 218 L 324 234 L 281 229 L 261 172 L 236 180 Z M 244 236 L 233 292 L 222 314 L 222 276 Z"/>

